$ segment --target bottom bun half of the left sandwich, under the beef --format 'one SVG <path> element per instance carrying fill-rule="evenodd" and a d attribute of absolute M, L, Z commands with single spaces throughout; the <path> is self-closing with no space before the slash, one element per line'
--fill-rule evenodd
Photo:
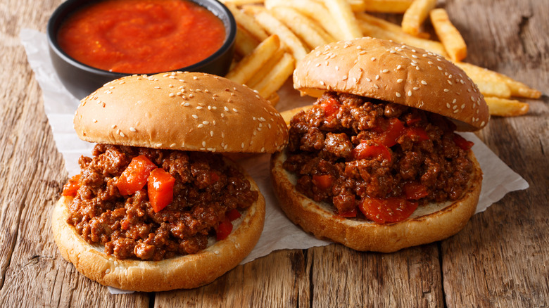
<path fill-rule="evenodd" d="M 251 189 L 258 186 L 247 177 Z M 197 288 L 214 281 L 238 265 L 258 242 L 265 222 L 265 198 L 258 200 L 233 222 L 224 240 L 210 240 L 205 250 L 162 261 L 116 259 L 103 252 L 102 245 L 90 245 L 67 223 L 72 198 L 61 197 L 53 209 L 53 237 L 61 255 L 84 276 L 102 285 L 142 292 Z"/>

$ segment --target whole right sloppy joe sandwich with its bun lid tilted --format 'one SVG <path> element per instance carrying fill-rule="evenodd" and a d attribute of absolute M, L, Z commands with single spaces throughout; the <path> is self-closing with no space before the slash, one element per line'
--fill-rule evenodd
<path fill-rule="evenodd" d="M 393 252 L 448 238 L 474 214 L 482 172 L 456 130 L 488 122 L 460 68 L 429 51 L 369 37 L 320 46 L 294 87 L 317 97 L 290 121 L 271 160 L 292 222 L 355 250 Z"/>

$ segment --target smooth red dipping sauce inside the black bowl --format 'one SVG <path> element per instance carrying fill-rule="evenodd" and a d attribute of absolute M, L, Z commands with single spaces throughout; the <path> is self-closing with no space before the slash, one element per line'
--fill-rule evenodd
<path fill-rule="evenodd" d="M 144 74 L 208 58 L 225 41 L 225 26 L 190 1 L 106 0 L 70 15 L 57 39 L 65 53 L 84 64 Z"/>

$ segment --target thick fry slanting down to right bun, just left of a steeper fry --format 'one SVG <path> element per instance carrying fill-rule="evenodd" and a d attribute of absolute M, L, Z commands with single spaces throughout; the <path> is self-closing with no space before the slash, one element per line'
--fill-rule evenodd
<path fill-rule="evenodd" d="M 331 40 L 325 39 L 325 37 L 329 37 L 329 34 L 324 32 L 322 28 L 315 27 L 315 22 L 313 20 L 310 20 L 294 8 L 275 6 L 270 12 L 274 17 L 289 27 L 290 30 L 304 41 L 310 49 L 315 49 L 317 46 L 334 41 L 333 38 Z M 324 32 L 324 34 L 321 34 L 320 32 Z"/>

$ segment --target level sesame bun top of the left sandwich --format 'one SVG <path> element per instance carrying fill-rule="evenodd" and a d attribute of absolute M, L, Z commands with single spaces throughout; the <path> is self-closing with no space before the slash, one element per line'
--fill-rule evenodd
<path fill-rule="evenodd" d="M 288 140 L 284 120 L 247 86 L 200 72 L 134 75 L 82 99 L 84 141 L 174 150 L 272 153 Z"/>

